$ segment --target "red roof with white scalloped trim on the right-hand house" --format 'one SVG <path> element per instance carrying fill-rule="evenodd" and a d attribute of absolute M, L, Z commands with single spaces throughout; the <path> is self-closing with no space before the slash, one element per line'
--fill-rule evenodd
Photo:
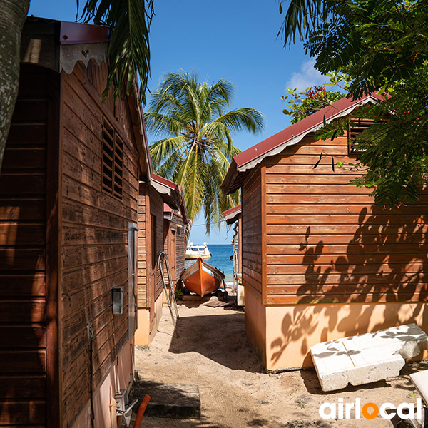
<path fill-rule="evenodd" d="M 275 135 L 266 138 L 264 141 L 261 141 L 255 146 L 250 147 L 233 157 L 221 188 L 226 194 L 235 192 L 235 190 L 240 188 L 244 178 L 243 174 L 245 173 L 246 175 L 249 170 L 252 170 L 267 156 L 278 154 L 278 150 L 275 149 L 279 149 L 281 151 L 282 148 L 291 146 L 292 144 L 297 144 L 308 133 L 321 128 L 325 122 L 329 123 L 335 118 L 347 116 L 357 106 L 370 101 L 375 102 L 382 99 L 384 99 L 384 96 L 379 96 L 377 93 L 370 93 L 370 95 L 358 100 L 352 100 L 351 98 L 346 97 L 341 98 L 330 106 L 322 108 L 322 110 L 317 111 L 301 121 L 294 123 L 292 126 L 289 126 Z"/>

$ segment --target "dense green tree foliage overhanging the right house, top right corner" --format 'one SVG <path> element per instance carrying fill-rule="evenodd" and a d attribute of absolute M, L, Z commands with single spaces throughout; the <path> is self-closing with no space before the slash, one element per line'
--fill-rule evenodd
<path fill-rule="evenodd" d="M 302 1 L 302 17 L 292 4 L 282 27 L 285 43 L 295 34 L 305 38 L 319 71 L 349 76 L 350 96 L 383 96 L 357 113 L 379 124 L 355 141 L 360 165 L 367 166 L 352 183 L 374 186 L 379 205 L 414 202 L 428 175 L 428 1 Z M 307 26 L 295 23 L 309 14 Z M 331 124 L 330 131 L 344 126 Z"/>

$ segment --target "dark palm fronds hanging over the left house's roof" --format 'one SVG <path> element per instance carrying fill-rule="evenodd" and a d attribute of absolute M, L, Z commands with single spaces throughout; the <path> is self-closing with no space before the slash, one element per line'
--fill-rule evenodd
<path fill-rule="evenodd" d="M 77 8 L 79 0 L 77 0 Z M 150 74 L 148 33 L 153 18 L 153 0 L 87 0 L 83 6 L 83 22 L 111 28 L 108 46 L 108 83 L 102 96 L 113 87 L 114 96 L 129 95 L 139 78 L 140 97 L 146 103 L 146 87 Z"/>

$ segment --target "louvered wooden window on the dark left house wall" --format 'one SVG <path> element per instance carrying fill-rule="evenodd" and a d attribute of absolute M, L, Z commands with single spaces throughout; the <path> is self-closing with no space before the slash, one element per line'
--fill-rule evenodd
<path fill-rule="evenodd" d="M 103 123 L 103 192 L 122 200 L 123 140 L 106 119 Z"/>

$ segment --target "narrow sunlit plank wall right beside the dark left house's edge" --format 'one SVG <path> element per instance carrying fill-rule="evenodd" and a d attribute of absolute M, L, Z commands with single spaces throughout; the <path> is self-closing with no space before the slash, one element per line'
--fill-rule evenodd
<path fill-rule="evenodd" d="M 150 200 L 148 196 L 148 184 L 140 183 L 138 194 L 138 260 L 137 260 L 137 283 L 138 283 L 138 309 L 150 306 L 150 296 L 147 292 L 148 270 L 151 268 L 151 258 L 148 255 L 148 245 L 151 243 L 150 229 Z"/>

